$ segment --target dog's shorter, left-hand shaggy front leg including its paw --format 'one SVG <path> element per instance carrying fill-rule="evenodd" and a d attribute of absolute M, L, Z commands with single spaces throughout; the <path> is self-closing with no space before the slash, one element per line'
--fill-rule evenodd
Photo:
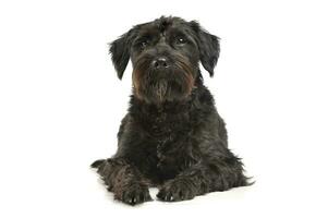
<path fill-rule="evenodd" d="M 124 158 L 97 160 L 92 167 L 98 168 L 98 173 L 107 184 L 108 191 L 114 193 L 116 199 L 130 205 L 151 201 L 148 186 L 142 180 L 141 173 Z"/>

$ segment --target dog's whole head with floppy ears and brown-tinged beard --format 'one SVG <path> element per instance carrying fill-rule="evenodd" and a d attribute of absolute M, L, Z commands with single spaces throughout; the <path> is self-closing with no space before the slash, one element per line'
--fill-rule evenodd
<path fill-rule="evenodd" d="M 131 59 L 136 97 L 156 104 L 186 98 L 202 76 L 198 63 L 212 76 L 219 51 L 218 37 L 197 22 L 171 16 L 136 25 L 110 46 L 119 78 Z"/>

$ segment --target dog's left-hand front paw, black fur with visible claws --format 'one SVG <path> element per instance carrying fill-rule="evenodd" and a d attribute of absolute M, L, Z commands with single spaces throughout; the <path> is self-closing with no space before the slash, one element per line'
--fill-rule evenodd
<path fill-rule="evenodd" d="M 129 205 L 151 201 L 148 187 L 141 184 L 129 186 L 126 190 L 122 191 L 122 193 L 116 194 L 116 198 Z"/>

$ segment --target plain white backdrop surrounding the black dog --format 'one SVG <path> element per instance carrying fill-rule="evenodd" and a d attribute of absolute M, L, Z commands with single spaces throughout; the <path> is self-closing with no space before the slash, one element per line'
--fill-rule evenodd
<path fill-rule="evenodd" d="M 327 11 L 324 0 L 1 1 L 0 217 L 327 217 Z M 88 168 L 114 154 L 131 92 L 131 65 L 119 81 L 107 44 L 160 15 L 221 38 L 205 83 L 255 185 L 130 207 Z"/>

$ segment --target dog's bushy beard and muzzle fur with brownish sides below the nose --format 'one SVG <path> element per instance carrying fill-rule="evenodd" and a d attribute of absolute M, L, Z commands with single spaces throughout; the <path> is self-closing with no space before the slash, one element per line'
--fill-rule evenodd
<path fill-rule="evenodd" d="M 153 70 L 150 60 L 139 59 L 133 70 L 133 85 L 136 97 L 147 102 L 180 101 L 194 87 L 194 70 L 182 57 L 168 69 Z"/>

